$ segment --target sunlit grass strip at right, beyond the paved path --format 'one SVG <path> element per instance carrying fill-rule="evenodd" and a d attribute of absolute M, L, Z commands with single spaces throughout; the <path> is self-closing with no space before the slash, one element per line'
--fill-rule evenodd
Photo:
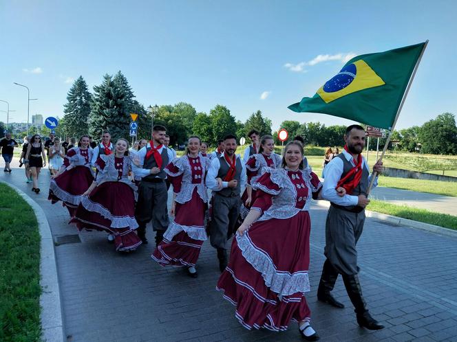
<path fill-rule="evenodd" d="M 426 179 L 406 179 L 380 176 L 378 185 L 394 187 L 396 189 L 457 197 L 457 182 L 428 181 Z"/>

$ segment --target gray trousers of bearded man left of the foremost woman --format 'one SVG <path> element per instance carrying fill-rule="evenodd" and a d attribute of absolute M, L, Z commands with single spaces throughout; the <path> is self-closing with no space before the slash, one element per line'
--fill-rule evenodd
<path fill-rule="evenodd" d="M 226 249 L 227 239 L 233 233 L 233 229 L 240 214 L 241 198 L 224 197 L 217 192 L 213 196 L 213 214 L 209 228 L 209 241 L 211 246 L 217 249 Z"/>

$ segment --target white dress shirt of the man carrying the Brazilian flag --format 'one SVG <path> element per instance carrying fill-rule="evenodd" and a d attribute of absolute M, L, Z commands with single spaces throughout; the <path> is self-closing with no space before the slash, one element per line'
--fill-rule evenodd
<path fill-rule="evenodd" d="M 343 150 L 343 156 L 346 158 L 346 160 L 350 161 L 352 166 L 355 166 L 354 164 L 354 158 L 352 155 L 347 152 L 346 150 Z M 326 178 L 323 181 L 323 187 L 322 187 L 322 197 L 326 199 L 327 201 L 333 202 L 337 205 L 343 205 L 343 206 L 350 206 L 350 205 L 357 205 L 359 202 L 358 196 L 353 196 L 353 195 L 344 195 L 344 196 L 338 196 L 337 194 L 337 184 L 339 180 L 341 179 L 341 174 L 343 174 L 343 161 L 339 157 L 333 158 L 330 163 L 326 165 Z M 362 156 L 362 167 L 363 168 L 368 168 L 368 163 L 365 161 L 365 158 Z M 370 172 L 370 168 L 368 168 L 368 172 Z M 368 183 L 370 184 L 372 178 L 372 174 L 368 176 Z M 376 187 L 378 185 L 378 176 L 376 176 L 376 179 L 374 179 L 373 187 Z"/>

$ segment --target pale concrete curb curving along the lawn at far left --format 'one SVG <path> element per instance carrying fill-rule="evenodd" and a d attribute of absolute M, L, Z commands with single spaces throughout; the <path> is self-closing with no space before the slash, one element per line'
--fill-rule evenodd
<path fill-rule="evenodd" d="M 12 187 L 32 207 L 38 221 L 40 242 L 40 321 L 43 341 L 65 341 L 63 334 L 61 290 L 57 275 L 56 255 L 51 229 L 43 209 L 27 194 L 11 183 L 1 181 Z"/>

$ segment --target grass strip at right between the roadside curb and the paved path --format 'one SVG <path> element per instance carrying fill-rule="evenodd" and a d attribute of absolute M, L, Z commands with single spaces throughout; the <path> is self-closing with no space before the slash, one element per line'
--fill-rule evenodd
<path fill-rule="evenodd" d="M 407 207 L 406 205 L 394 205 L 377 200 L 371 200 L 367 210 L 457 230 L 457 216 L 438 214 L 425 209 Z"/>

